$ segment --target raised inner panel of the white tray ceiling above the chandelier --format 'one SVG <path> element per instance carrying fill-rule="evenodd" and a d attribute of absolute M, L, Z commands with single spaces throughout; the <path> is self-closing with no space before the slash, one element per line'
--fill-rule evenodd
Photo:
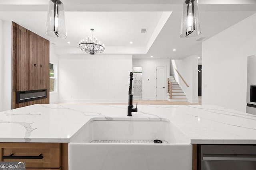
<path fill-rule="evenodd" d="M 78 45 L 81 39 L 98 38 L 107 47 L 146 46 L 163 12 L 65 12 L 67 39 L 56 39 L 45 34 L 47 12 L 0 12 L 0 19 L 14 21 L 56 46 Z M 146 33 L 140 33 L 147 28 Z"/>

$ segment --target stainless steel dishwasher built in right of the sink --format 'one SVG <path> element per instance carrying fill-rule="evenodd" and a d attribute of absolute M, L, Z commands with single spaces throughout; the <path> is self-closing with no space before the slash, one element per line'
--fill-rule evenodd
<path fill-rule="evenodd" d="M 256 170 L 256 145 L 198 145 L 199 170 Z"/>

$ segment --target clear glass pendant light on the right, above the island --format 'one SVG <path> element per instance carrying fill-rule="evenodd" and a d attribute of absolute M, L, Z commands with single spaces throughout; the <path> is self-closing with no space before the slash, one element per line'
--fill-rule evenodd
<path fill-rule="evenodd" d="M 181 38 L 195 37 L 201 33 L 198 0 L 185 0 L 181 21 Z"/>

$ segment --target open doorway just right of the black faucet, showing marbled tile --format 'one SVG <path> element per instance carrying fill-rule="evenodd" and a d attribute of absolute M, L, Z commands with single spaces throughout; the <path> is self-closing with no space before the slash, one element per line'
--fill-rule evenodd
<path fill-rule="evenodd" d="M 133 99 L 142 100 L 142 67 L 133 68 Z"/>

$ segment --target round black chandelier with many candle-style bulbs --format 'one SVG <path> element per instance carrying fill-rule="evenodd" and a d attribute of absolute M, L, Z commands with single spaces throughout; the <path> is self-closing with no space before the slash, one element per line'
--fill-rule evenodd
<path fill-rule="evenodd" d="M 94 29 L 91 29 L 92 31 Z M 79 42 L 79 48 L 82 51 L 85 51 L 86 53 L 90 53 L 91 55 L 102 53 L 105 50 L 105 45 L 101 45 L 101 42 L 98 41 L 95 37 L 86 37 L 85 41 L 84 39 Z"/>

